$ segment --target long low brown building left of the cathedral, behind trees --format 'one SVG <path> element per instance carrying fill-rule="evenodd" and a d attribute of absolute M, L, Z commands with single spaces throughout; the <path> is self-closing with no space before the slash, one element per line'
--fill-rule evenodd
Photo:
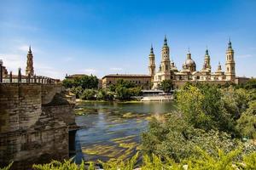
<path fill-rule="evenodd" d="M 138 75 L 138 74 L 110 74 L 102 77 L 102 88 L 108 88 L 111 84 L 116 84 L 119 79 L 125 81 L 133 82 L 137 86 L 143 89 L 149 89 L 151 83 L 151 76 L 148 75 Z"/>

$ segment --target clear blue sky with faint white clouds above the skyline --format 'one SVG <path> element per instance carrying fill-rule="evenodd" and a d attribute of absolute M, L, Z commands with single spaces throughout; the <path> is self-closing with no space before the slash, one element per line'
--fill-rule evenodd
<path fill-rule="evenodd" d="M 201 70 L 206 48 L 212 71 L 223 69 L 229 37 L 236 75 L 256 77 L 255 0 L 0 0 L 0 59 L 25 74 L 29 45 L 37 75 L 148 74 L 166 35 L 180 70 L 188 48 Z"/>

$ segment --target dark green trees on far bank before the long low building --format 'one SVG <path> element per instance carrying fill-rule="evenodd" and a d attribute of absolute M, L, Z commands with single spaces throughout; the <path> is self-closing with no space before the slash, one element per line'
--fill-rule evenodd
<path fill-rule="evenodd" d="M 77 99 L 84 100 L 131 100 L 133 96 L 142 95 L 142 87 L 134 82 L 119 79 L 108 88 L 98 88 L 98 78 L 95 76 L 75 77 L 65 79 L 62 84 L 65 88 L 70 88 Z"/>

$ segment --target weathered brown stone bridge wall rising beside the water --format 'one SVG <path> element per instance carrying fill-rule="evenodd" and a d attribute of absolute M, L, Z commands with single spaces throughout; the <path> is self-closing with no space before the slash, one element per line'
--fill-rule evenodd
<path fill-rule="evenodd" d="M 0 83 L 0 167 L 68 158 L 74 97 L 61 85 Z"/>

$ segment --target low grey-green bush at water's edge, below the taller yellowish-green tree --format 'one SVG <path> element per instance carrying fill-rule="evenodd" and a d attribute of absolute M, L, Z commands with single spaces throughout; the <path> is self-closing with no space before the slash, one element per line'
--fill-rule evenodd
<path fill-rule="evenodd" d="M 191 126 L 178 113 L 170 114 L 165 123 L 156 120 L 150 122 L 148 132 L 143 133 L 142 137 L 144 153 L 167 156 L 175 161 L 200 156 L 196 146 L 206 150 L 211 156 L 218 156 L 216 148 L 229 152 L 239 144 L 228 133 L 204 131 Z"/>

